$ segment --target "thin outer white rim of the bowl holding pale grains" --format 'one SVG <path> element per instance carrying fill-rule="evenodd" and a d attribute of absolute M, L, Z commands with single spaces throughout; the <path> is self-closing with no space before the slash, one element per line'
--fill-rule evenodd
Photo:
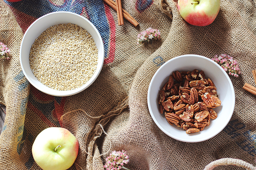
<path fill-rule="evenodd" d="M 97 36 L 99 37 L 99 44 L 101 44 L 100 46 L 103 48 L 102 49 L 102 53 L 101 55 L 103 56 L 102 57 L 102 60 L 100 60 L 98 58 L 98 65 L 97 65 L 97 68 L 96 68 L 96 72 L 93 74 L 93 77 L 91 77 L 91 79 L 86 83 L 84 84 L 83 86 L 77 88 L 77 89 L 73 89 L 73 90 L 63 90 L 63 91 L 60 91 L 60 90 L 54 90 L 54 89 L 51 89 L 50 87 L 47 87 L 45 85 L 45 89 L 40 89 L 31 79 L 30 77 L 26 74 L 25 72 L 25 69 L 23 67 L 23 63 L 22 63 L 22 59 L 21 59 L 21 51 L 22 51 L 22 44 L 23 44 L 23 41 L 24 41 L 24 38 L 26 37 L 27 35 L 27 32 L 30 30 L 30 28 L 34 27 L 34 25 L 39 22 L 42 18 L 45 18 L 45 17 L 49 17 L 50 15 L 55 15 L 55 14 L 63 14 L 63 13 L 66 13 L 66 14 L 72 14 L 72 15 L 76 15 L 76 17 L 80 17 L 82 18 L 84 21 L 86 21 L 91 27 L 93 27 L 94 31 L 96 32 Z M 79 25 L 79 23 L 77 24 Z M 99 48 L 99 47 L 97 47 Z M 99 55 L 99 54 L 98 54 Z M 26 30 L 26 32 L 24 33 L 23 35 L 23 38 L 22 38 L 22 41 L 21 41 L 21 45 L 20 45 L 20 65 L 21 65 L 21 70 L 23 71 L 23 74 L 25 75 L 25 77 L 27 78 L 27 80 L 29 81 L 30 84 L 32 84 L 32 86 L 34 86 L 36 89 L 40 90 L 41 92 L 44 92 L 46 94 L 49 94 L 49 95 L 52 95 L 52 96 L 71 96 L 71 95 L 75 95 L 77 93 L 80 93 L 82 92 L 83 90 L 87 89 L 95 80 L 96 78 L 98 78 L 100 72 L 101 72 L 101 69 L 102 69 L 102 66 L 104 64 L 104 56 L 105 56 L 105 50 L 104 50 L 104 44 L 103 44 L 103 41 L 102 41 L 102 38 L 101 38 L 101 35 L 98 31 L 98 29 L 85 17 L 82 17 L 81 15 L 78 15 L 74 12 L 68 12 L 68 11 L 57 11 L 57 12 L 50 12 L 49 14 L 46 14 L 46 15 L 43 15 L 42 17 L 40 18 L 37 18 L 37 20 L 35 20 Z M 41 82 L 40 82 L 41 83 Z M 48 89 L 48 90 L 47 90 Z M 55 93 L 56 92 L 56 93 Z"/>

